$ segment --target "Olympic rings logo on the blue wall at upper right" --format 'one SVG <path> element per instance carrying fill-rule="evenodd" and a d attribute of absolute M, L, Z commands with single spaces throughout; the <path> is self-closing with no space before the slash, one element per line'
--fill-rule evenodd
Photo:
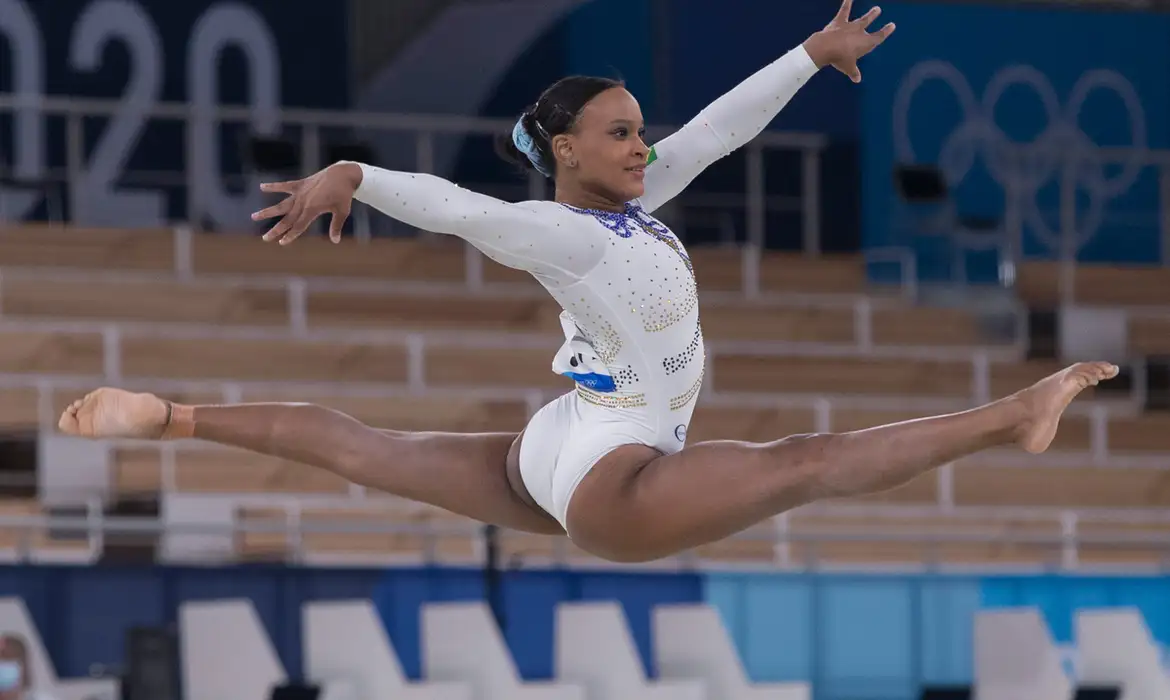
<path fill-rule="evenodd" d="M 911 139 L 910 110 L 915 94 L 932 81 L 950 89 L 962 111 L 958 126 L 943 140 L 938 152 L 937 165 L 948 183 L 951 186 L 962 183 L 976 159 L 982 158 L 990 177 L 1004 188 L 1005 198 L 1012 198 L 1020 207 L 1024 224 L 1048 246 L 1058 247 L 1061 236 L 1040 210 L 1041 188 L 1057 178 L 1069 177 L 1073 181 L 1066 185 L 1087 195 L 1087 207 L 1078 211 L 1073 232 L 1079 247 L 1100 229 L 1109 201 L 1128 192 L 1145 166 L 1145 112 L 1134 85 L 1121 74 L 1106 69 L 1082 74 L 1061 105 L 1052 82 L 1031 66 L 1000 69 L 979 98 L 955 66 L 937 60 L 911 68 L 894 96 L 894 150 L 900 163 L 920 162 Z M 996 110 L 1011 88 L 1031 90 L 1044 109 L 1047 125 L 1032 140 L 1013 140 L 997 123 Z M 1113 92 L 1128 115 L 1131 145 L 1120 149 L 1121 158 L 1107 158 L 1102 146 L 1081 129 L 1085 103 L 1096 91 Z M 1120 165 L 1121 171 L 1109 177 L 1109 165 Z"/>

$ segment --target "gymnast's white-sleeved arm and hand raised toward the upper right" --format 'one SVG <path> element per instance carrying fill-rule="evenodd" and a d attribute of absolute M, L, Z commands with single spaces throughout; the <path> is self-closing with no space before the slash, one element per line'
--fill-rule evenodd
<path fill-rule="evenodd" d="M 825 66 L 833 66 L 858 82 L 858 60 L 894 30 L 886 25 L 867 28 L 880 11 L 851 21 L 852 0 L 845 0 L 833 21 L 803 44 L 758 70 L 651 150 L 646 194 L 639 201 L 653 212 L 674 199 L 709 165 L 743 146 L 792 99 L 801 85 Z"/>

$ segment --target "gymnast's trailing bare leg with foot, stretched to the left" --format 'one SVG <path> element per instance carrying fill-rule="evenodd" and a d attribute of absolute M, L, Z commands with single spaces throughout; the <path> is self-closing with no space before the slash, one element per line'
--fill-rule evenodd
<path fill-rule="evenodd" d="M 242 447 L 481 522 L 564 533 L 509 480 L 509 471 L 517 472 L 516 433 L 383 431 L 315 404 L 168 405 L 121 389 L 74 402 L 60 427 L 84 438 L 197 438 Z"/>

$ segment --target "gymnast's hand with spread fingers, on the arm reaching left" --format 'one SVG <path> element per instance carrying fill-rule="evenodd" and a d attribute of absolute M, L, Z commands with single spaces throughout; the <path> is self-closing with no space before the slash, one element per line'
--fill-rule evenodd
<path fill-rule="evenodd" d="M 330 214 L 329 240 L 342 241 L 342 226 L 350 217 L 353 193 L 362 184 L 362 167 L 356 163 L 335 163 L 303 180 L 263 183 L 262 192 L 287 194 L 283 200 L 252 215 L 253 221 L 280 217 L 264 234 L 266 241 L 287 246 L 295 241 L 322 214 Z"/>

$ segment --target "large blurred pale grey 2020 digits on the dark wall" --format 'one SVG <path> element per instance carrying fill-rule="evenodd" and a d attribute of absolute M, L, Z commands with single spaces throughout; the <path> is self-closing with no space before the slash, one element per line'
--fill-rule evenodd
<path fill-rule="evenodd" d="M 164 46 L 158 26 L 135 0 L 94 0 L 84 5 L 69 28 L 63 59 L 77 75 L 103 68 L 106 49 L 116 43 L 129 55 L 129 78 L 121 96 L 91 102 L 46 103 L 47 68 L 50 60 L 44 36 L 27 0 L 0 0 L 0 40 L 7 43 L 11 61 L 0 62 L 0 81 L 11 89 L 0 118 L 11 121 L 11 144 L 0 143 L 0 171 L 18 180 L 67 183 L 71 219 L 87 226 L 165 226 L 171 217 L 168 192 L 151 188 L 142 178 L 122 184 L 126 167 L 152 122 L 183 123 L 184 162 L 167 164 L 166 174 L 178 178 L 186 190 L 186 215 L 199 217 L 216 227 L 240 227 L 259 205 L 250 188 L 240 192 L 227 186 L 220 163 L 222 130 L 216 117 L 220 78 L 219 62 L 225 50 L 234 49 L 247 62 L 248 114 L 243 126 L 250 132 L 274 136 L 281 129 L 280 52 L 276 37 L 264 18 L 253 7 L 218 2 L 208 7 L 191 27 L 186 46 Z M 183 50 L 186 64 L 186 101 L 181 110 L 164 110 L 161 96 L 166 64 L 164 50 Z M 0 47 L 0 56 L 4 55 Z M 53 67 L 58 68 L 58 67 Z M 8 75 L 4 75 L 7 73 Z M 76 124 L 82 116 L 102 125 L 98 133 L 67 129 L 85 143 L 64 149 L 67 169 L 50 172 L 49 118 L 66 117 Z M 0 136 L 2 138 L 2 136 Z M 67 137 L 69 140 L 70 137 Z M 80 146 L 80 147 L 78 147 Z M 61 172 L 66 171 L 66 172 Z M 20 187 L 0 187 L 0 219 L 21 220 L 34 214 L 41 197 Z"/>

